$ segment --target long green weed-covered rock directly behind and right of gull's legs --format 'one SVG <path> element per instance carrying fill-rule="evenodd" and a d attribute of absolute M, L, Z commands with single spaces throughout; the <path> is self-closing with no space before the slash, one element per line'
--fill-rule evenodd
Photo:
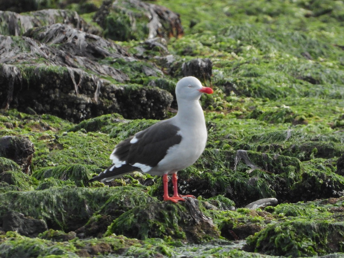
<path fill-rule="evenodd" d="M 298 159 L 252 151 L 240 153 L 243 156 L 237 151 L 206 149 L 194 166 L 178 172 L 180 192 L 203 198 L 221 194 L 239 207 L 260 198 L 291 197 L 290 188 L 300 181 L 303 172 Z M 151 187 L 152 195 L 162 195 L 160 180 Z"/>

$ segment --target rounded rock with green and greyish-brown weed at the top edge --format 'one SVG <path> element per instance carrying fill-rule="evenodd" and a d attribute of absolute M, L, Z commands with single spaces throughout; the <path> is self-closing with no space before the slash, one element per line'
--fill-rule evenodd
<path fill-rule="evenodd" d="M 140 0 L 103 2 L 94 20 L 113 40 L 144 40 L 154 37 L 181 37 L 179 15 L 166 7 Z"/>

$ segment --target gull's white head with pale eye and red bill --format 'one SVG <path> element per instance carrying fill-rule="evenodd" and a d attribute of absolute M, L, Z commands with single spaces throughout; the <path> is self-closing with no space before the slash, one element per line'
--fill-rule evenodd
<path fill-rule="evenodd" d="M 213 89 L 208 87 L 203 87 L 201 82 L 193 77 L 188 76 L 179 80 L 177 86 L 175 87 L 175 95 L 178 99 L 200 99 L 202 93 L 212 94 Z"/>

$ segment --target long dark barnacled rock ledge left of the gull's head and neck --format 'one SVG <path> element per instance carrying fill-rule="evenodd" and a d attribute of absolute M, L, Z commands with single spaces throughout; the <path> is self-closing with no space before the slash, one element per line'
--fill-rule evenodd
<path fill-rule="evenodd" d="M 49 113 L 73 122 L 113 112 L 131 119 L 162 119 L 173 99 L 157 87 L 115 86 L 75 68 L 3 64 L 0 70 L 0 103 L 4 107 L 31 107 L 38 114 Z"/>

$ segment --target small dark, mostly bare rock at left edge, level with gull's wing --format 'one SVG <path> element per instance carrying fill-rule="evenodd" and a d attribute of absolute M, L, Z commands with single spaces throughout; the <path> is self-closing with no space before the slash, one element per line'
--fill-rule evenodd
<path fill-rule="evenodd" d="M 31 162 L 35 152 L 33 143 L 24 137 L 4 136 L 0 138 L 0 157 L 13 160 L 25 174 L 31 174 Z"/>

